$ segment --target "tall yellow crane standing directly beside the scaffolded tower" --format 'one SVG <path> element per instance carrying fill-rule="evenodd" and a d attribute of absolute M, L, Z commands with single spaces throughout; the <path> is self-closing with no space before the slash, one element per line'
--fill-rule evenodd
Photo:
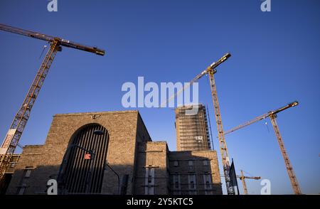
<path fill-rule="evenodd" d="M 220 114 L 217 89 L 215 87 L 215 78 L 213 76 L 217 72 L 215 68 L 217 68 L 218 65 L 220 65 L 225 60 L 230 58 L 230 56 L 231 56 L 230 53 L 226 53 L 218 61 L 209 65 L 209 67 L 206 68 L 206 70 L 203 70 L 199 75 L 193 78 L 193 80 L 191 80 L 191 82 L 189 82 L 188 85 L 185 85 L 181 90 L 178 90 L 176 94 L 172 95 L 171 97 L 169 97 L 168 100 L 161 103 L 160 107 L 164 107 L 164 104 L 166 104 L 167 102 L 169 102 L 170 100 L 174 99 L 176 96 L 181 94 L 183 90 L 186 90 L 186 88 L 190 87 L 190 85 L 193 84 L 193 82 L 196 82 L 197 80 L 199 80 L 201 77 L 203 77 L 203 75 L 209 75 L 210 90 L 211 90 L 211 96 L 213 100 L 213 107 L 215 110 L 215 122 L 217 124 L 217 129 L 218 129 L 218 140 L 219 140 L 220 154 L 221 154 L 222 163 L 223 163 L 223 173 L 225 176 L 225 184 L 227 186 L 228 195 L 235 195 L 235 188 L 233 188 L 233 186 L 231 186 L 231 183 L 230 183 L 230 177 L 229 177 L 230 161 L 228 156 L 227 144 L 225 143 L 225 136 L 223 134 L 223 123 L 222 123 L 221 114 Z"/>

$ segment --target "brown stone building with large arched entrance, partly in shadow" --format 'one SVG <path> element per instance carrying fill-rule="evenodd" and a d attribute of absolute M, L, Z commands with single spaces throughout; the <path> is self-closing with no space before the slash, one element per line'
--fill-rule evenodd
<path fill-rule="evenodd" d="M 46 142 L 23 147 L 6 194 L 222 194 L 215 151 L 169 151 L 138 111 L 55 114 Z"/>

